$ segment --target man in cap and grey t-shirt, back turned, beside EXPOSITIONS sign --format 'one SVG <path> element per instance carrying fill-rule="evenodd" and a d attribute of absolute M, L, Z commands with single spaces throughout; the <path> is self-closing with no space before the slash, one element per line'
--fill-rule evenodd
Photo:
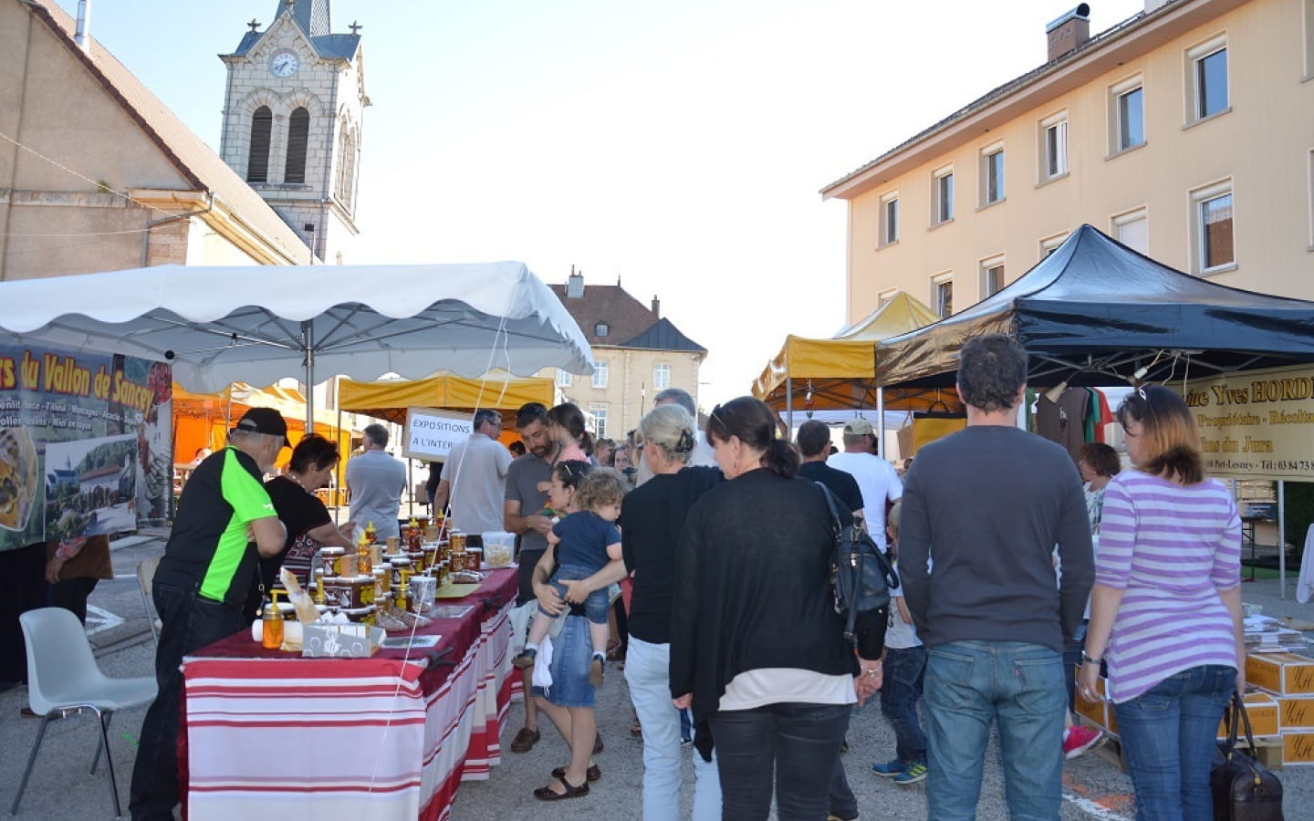
<path fill-rule="evenodd" d="M 434 510 L 443 510 L 451 499 L 455 527 L 468 533 L 472 548 L 484 545 L 486 531 L 502 529 L 511 452 L 497 440 L 501 435 L 499 412 L 486 407 L 474 411 L 474 432 L 452 448 L 434 491 Z"/>

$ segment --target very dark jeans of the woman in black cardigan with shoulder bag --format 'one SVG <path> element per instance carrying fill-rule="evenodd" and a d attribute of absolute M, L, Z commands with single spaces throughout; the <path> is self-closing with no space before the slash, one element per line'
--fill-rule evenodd
<path fill-rule="evenodd" d="M 774 780 L 781 821 L 825 818 L 851 711 L 850 704 L 782 703 L 712 713 L 721 817 L 766 821 Z"/>

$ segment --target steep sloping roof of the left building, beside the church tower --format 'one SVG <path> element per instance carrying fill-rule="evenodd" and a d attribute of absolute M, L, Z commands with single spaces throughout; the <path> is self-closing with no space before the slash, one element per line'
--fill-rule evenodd
<path fill-rule="evenodd" d="M 310 261 L 310 250 L 301 235 L 113 54 L 93 37 L 87 38 L 85 51 L 78 47 L 74 42 L 76 24 L 72 17 L 51 0 L 24 0 L 22 5 L 32 9 L 68 51 L 81 60 L 191 185 L 197 190 L 214 193 L 290 261 Z"/>

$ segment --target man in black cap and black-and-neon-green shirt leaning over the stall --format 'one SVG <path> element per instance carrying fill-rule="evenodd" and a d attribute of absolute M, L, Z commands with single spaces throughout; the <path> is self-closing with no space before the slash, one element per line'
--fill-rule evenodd
<path fill-rule="evenodd" d="M 286 532 L 260 479 L 286 444 L 288 423 L 279 411 L 252 407 L 229 433 L 229 447 L 201 461 L 183 487 L 151 591 L 162 624 L 159 694 L 142 722 L 133 770 L 135 821 L 171 820 L 179 801 L 183 657 L 243 629 L 256 560 L 283 549 Z"/>

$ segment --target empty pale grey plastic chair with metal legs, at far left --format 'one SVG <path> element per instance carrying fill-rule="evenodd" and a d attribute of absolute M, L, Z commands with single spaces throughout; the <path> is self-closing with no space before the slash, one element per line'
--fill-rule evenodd
<path fill-rule="evenodd" d="M 92 655 L 87 631 L 78 616 L 62 607 L 30 610 L 18 616 L 18 621 L 28 642 L 28 703 L 32 712 L 41 716 L 41 729 L 37 732 L 37 742 L 32 745 L 28 768 L 18 782 L 18 795 L 13 797 L 9 814 L 18 813 L 18 803 L 28 788 L 28 778 L 32 775 L 32 766 L 37 763 L 37 751 L 51 717 L 89 709 L 100 719 L 100 741 L 91 762 L 91 774 L 96 774 L 104 751 L 109 792 L 114 799 L 114 817 L 120 817 L 118 784 L 114 783 L 114 761 L 109 754 L 109 720 L 114 711 L 154 701 L 155 677 L 106 677 Z"/>

